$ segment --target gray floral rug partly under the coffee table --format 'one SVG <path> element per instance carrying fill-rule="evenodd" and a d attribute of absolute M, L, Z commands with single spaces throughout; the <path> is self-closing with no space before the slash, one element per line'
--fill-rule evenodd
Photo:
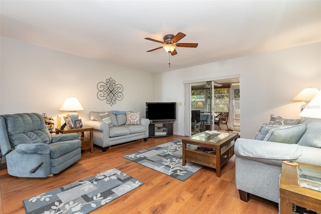
<path fill-rule="evenodd" d="M 185 181 L 202 166 L 190 162 L 182 166 L 182 149 L 182 141 L 176 140 L 125 155 L 123 158 Z"/>

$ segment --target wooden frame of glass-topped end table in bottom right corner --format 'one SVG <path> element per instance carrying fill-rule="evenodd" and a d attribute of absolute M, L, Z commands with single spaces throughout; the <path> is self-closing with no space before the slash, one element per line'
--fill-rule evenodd
<path fill-rule="evenodd" d="M 303 166 L 317 170 L 321 174 L 321 167 L 301 163 L 298 164 L 298 166 L 291 166 L 282 163 L 280 178 L 280 213 L 292 214 L 292 204 L 321 212 L 321 192 L 300 187 L 297 168 Z"/>

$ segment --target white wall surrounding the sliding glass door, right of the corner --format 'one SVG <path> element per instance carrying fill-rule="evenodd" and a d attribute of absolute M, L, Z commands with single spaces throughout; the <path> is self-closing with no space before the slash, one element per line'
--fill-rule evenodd
<path fill-rule="evenodd" d="M 321 43 L 250 55 L 155 75 L 155 100 L 184 103 L 183 81 L 240 75 L 241 137 L 253 138 L 270 114 L 298 118 L 302 102 L 291 99 L 305 87 L 321 89 Z M 184 106 L 174 134 L 184 135 Z"/>

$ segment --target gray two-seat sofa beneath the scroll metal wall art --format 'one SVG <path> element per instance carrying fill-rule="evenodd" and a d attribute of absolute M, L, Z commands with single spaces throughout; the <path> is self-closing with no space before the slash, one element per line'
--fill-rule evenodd
<path fill-rule="evenodd" d="M 102 119 L 106 115 L 109 119 Z M 136 123 L 129 123 L 130 125 L 126 125 L 126 122 L 124 111 L 90 112 L 90 121 L 84 122 L 84 126 L 94 128 L 94 144 L 100 146 L 103 152 L 113 145 L 140 139 L 147 141 L 148 119 L 139 117 Z"/>

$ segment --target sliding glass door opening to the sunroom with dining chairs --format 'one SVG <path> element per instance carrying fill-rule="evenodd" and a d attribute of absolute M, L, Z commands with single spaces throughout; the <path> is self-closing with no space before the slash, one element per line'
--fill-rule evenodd
<path fill-rule="evenodd" d="M 215 117 L 220 113 L 228 115 L 227 126 L 220 126 L 221 130 L 240 130 L 240 87 L 238 75 L 214 80 L 186 81 L 184 84 L 186 105 L 185 135 L 190 136 L 192 133 L 192 111 L 200 112 L 201 131 L 218 130 L 219 127 L 214 125 L 214 121 Z M 188 95 L 190 95 L 189 100 L 187 99 Z"/>

